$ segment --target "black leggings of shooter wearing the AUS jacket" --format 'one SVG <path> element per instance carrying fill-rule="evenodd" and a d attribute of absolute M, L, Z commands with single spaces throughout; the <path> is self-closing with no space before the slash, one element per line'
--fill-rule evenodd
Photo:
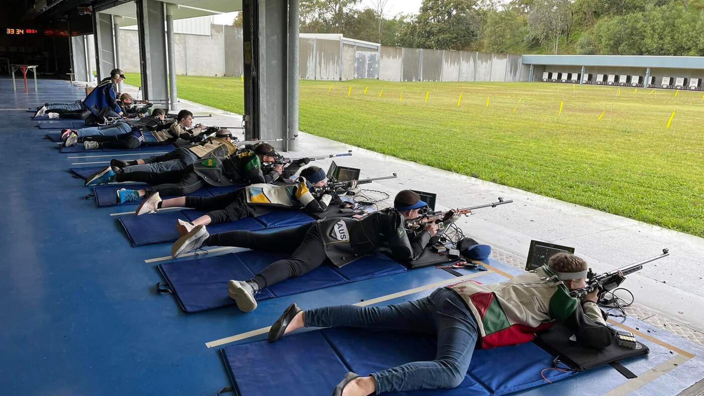
<path fill-rule="evenodd" d="M 253 233 L 251 231 L 229 231 L 210 235 L 203 245 L 247 247 L 265 252 L 290 253 L 289 259 L 269 264 L 254 280 L 259 289 L 274 285 L 282 280 L 301 276 L 318 268 L 325 262 L 325 246 L 315 221 L 298 225 L 296 228 L 275 233 Z"/>

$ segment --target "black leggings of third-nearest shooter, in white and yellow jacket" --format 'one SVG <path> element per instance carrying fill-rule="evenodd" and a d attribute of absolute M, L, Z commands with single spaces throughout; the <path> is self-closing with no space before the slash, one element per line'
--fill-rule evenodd
<path fill-rule="evenodd" d="M 247 203 L 246 190 L 226 192 L 213 197 L 186 197 L 186 207 L 208 211 L 210 224 L 227 223 L 245 217 L 256 217 L 268 212 L 261 206 Z"/>

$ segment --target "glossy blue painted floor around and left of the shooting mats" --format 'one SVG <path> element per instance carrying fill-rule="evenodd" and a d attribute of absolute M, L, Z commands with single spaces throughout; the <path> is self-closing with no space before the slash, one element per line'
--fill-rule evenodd
<path fill-rule="evenodd" d="M 144 262 L 167 256 L 170 245 L 130 247 L 110 214 L 134 206 L 97 208 L 83 199 L 90 190 L 82 180 L 68 173 L 73 163 L 109 158 L 89 157 L 104 153 L 61 154 L 52 149 L 54 143 L 42 140 L 46 130 L 34 126 L 30 113 L 4 110 L 82 97 L 82 89 L 62 81 L 39 80 L 39 92 L 25 94 L 13 92 L 11 80 L 0 80 L 2 395 L 213 395 L 229 379 L 218 348 L 208 348 L 206 342 L 270 326 L 293 301 L 301 307 L 351 304 L 453 278 L 421 268 L 265 300 L 250 314 L 234 307 L 184 314 L 170 295 L 156 292 L 161 276 L 155 264 Z M 501 279 L 487 273 L 484 281 Z M 652 329 L 658 338 L 696 355 L 636 393 L 676 394 L 675 389 L 704 376 L 703 348 L 637 321 L 628 324 Z M 672 356 L 667 348 L 650 347 L 656 353 L 631 368 L 636 373 Z M 591 381 L 599 385 L 593 387 Z M 525 393 L 584 394 L 584 386 L 590 386 L 596 394 L 624 381 L 605 368 Z"/>

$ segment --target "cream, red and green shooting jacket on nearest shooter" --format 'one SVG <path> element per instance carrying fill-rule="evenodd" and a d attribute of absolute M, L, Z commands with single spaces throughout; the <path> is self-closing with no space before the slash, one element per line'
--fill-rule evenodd
<path fill-rule="evenodd" d="M 448 286 L 472 311 L 479 329 L 478 346 L 501 347 L 529 342 L 536 333 L 560 321 L 574 331 L 577 342 L 601 349 L 612 333 L 598 305 L 580 304 L 548 266 L 522 273 L 502 283 L 481 285 L 465 280 Z"/>

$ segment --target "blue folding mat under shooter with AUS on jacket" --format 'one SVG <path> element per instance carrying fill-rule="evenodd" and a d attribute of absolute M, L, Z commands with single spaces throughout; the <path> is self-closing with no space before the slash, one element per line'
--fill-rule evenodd
<path fill-rule="evenodd" d="M 187 312 L 199 312 L 234 305 L 234 301 L 227 297 L 227 282 L 230 279 L 250 279 L 272 262 L 288 256 L 289 254 L 283 253 L 247 250 L 203 259 L 173 261 L 159 264 L 158 268 L 181 308 Z M 342 268 L 323 264 L 305 276 L 289 278 L 266 287 L 256 298 L 260 301 L 294 295 L 405 271 L 408 270 L 396 261 L 382 254 L 375 254 Z"/>

